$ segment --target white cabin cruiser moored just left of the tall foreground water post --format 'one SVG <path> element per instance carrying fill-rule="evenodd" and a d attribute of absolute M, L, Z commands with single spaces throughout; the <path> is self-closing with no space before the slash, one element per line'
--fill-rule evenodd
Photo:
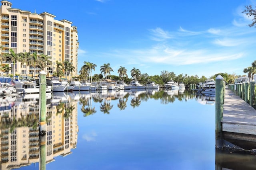
<path fill-rule="evenodd" d="M 12 85 L 16 88 L 16 92 L 23 94 L 39 93 L 40 89 L 36 88 L 36 83 L 32 82 L 26 76 L 14 76 Z"/>

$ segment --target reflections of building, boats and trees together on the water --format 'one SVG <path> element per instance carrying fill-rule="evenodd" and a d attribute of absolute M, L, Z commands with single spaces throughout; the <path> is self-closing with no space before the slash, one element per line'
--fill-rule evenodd
<path fill-rule="evenodd" d="M 119 110 L 128 106 L 136 108 L 149 99 L 159 100 L 164 105 L 188 100 L 214 104 L 215 96 L 197 95 L 184 90 L 152 89 L 47 93 L 46 163 L 52 162 L 56 156 L 71 154 L 76 148 L 78 106 L 87 117 L 96 113 L 111 114 L 114 107 Z M 1 169 L 39 162 L 39 112 L 39 94 L 0 98 Z"/>

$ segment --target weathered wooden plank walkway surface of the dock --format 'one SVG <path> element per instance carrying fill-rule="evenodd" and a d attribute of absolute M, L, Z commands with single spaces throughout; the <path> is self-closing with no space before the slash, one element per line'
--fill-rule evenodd
<path fill-rule="evenodd" d="M 225 89 L 222 131 L 256 135 L 256 109 Z"/>

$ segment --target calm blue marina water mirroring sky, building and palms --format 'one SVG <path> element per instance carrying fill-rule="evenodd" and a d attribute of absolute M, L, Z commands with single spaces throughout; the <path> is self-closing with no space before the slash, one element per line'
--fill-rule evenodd
<path fill-rule="evenodd" d="M 174 90 L 53 93 L 46 169 L 214 170 L 214 100 Z M 1 169 L 39 169 L 38 96 L 1 101 Z"/>

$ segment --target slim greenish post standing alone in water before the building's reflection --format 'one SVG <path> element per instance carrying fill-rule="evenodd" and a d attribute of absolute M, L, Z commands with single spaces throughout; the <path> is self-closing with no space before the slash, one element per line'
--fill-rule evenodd
<path fill-rule="evenodd" d="M 40 122 L 39 122 L 39 142 L 40 142 L 40 170 L 46 170 L 46 73 L 41 71 L 40 75 Z"/>

